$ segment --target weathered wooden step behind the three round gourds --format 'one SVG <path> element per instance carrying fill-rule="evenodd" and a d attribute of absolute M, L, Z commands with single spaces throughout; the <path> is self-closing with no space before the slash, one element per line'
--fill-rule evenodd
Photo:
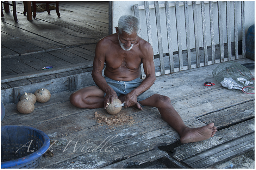
<path fill-rule="evenodd" d="M 17 98 L 18 93 L 35 93 L 39 88 L 46 88 L 53 94 L 89 86 L 94 83 L 91 75 L 92 64 L 93 62 L 89 61 L 87 63 L 75 64 L 73 67 L 68 68 L 53 68 L 33 73 L 24 73 L 20 74 L 20 76 L 2 77 L 1 100 L 4 104 L 15 103 L 14 98 Z M 77 79 L 75 89 L 69 88 L 71 87 L 70 79 Z"/>

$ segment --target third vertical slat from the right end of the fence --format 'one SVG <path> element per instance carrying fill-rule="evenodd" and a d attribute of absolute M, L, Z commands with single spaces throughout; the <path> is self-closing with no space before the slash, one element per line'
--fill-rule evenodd
<path fill-rule="evenodd" d="M 230 24 L 230 1 L 226 1 L 226 23 L 227 23 L 227 52 L 229 54 L 227 60 L 232 60 L 231 53 L 231 24 Z"/>

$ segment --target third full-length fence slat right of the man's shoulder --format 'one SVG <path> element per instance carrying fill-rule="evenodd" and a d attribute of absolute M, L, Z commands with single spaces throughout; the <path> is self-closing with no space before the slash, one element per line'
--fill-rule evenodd
<path fill-rule="evenodd" d="M 175 15 L 176 15 L 176 28 L 177 28 L 177 40 L 178 40 L 179 64 L 180 64 L 180 71 L 181 71 L 181 70 L 183 70 L 183 58 L 182 58 L 182 45 L 181 45 L 180 5 L 179 5 L 179 1 L 175 1 Z"/>

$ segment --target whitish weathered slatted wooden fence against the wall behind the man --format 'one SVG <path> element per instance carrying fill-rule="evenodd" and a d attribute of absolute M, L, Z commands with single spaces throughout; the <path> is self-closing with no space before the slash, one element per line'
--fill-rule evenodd
<path fill-rule="evenodd" d="M 178 72 L 181 70 L 196 68 L 196 67 L 202 67 L 207 66 L 208 64 L 214 64 L 224 61 L 230 61 L 238 59 L 238 34 L 242 34 L 242 57 L 245 57 L 245 20 L 244 20 L 244 1 L 226 1 L 224 2 L 226 4 L 226 7 L 223 6 L 223 2 L 221 1 L 175 1 L 175 2 L 168 2 L 165 1 L 164 3 L 159 4 L 158 1 L 155 1 L 154 4 L 150 4 L 148 1 L 144 2 L 144 5 L 133 5 L 131 8 L 134 10 L 135 16 L 139 18 L 139 13 L 142 13 L 140 10 L 144 10 L 143 12 L 145 14 L 146 19 L 146 28 L 147 28 L 147 36 L 143 39 L 148 39 L 151 46 L 153 46 L 153 40 L 152 40 L 152 34 L 157 34 L 157 45 L 158 45 L 158 54 L 159 54 L 159 60 L 160 60 L 160 72 L 156 72 L 156 76 Z M 239 4 L 240 3 L 240 4 Z M 208 4 L 208 5 L 206 5 Z M 189 13 L 188 6 L 192 5 L 192 13 Z M 217 5 L 218 13 L 215 16 L 214 14 L 214 8 L 213 6 Z M 184 8 L 180 8 L 183 6 Z M 207 7 L 206 7 L 207 6 Z M 233 7 L 233 9 L 231 8 Z M 241 25 L 242 25 L 242 33 L 238 33 L 238 8 L 241 7 Z M 161 13 L 160 9 L 164 8 L 165 12 Z M 173 35 L 171 34 L 173 30 L 171 30 L 171 15 L 170 11 L 171 8 L 175 9 L 175 20 L 176 20 L 176 33 L 177 33 L 177 39 L 173 39 Z M 206 9 L 208 8 L 208 9 Z M 223 8 L 225 8 L 225 11 L 223 11 Z M 155 13 L 150 13 L 150 9 L 155 9 Z M 183 11 L 182 11 L 183 10 Z M 162 11 L 162 10 L 161 10 Z M 173 11 L 173 10 L 172 10 Z M 198 11 L 201 12 L 201 16 L 198 17 L 197 13 Z M 206 13 L 206 11 L 208 11 Z M 230 15 L 230 13 L 233 12 L 233 15 Z M 183 17 L 184 14 L 184 18 Z M 155 15 L 155 20 L 150 20 L 150 15 Z M 166 22 L 166 28 L 161 28 L 161 18 L 163 18 L 165 15 L 165 22 Z M 233 18 L 231 18 L 231 16 Z M 210 26 L 207 26 L 206 24 L 206 17 L 210 19 Z M 214 19 L 217 18 L 218 20 L 218 32 L 214 32 Z M 193 20 L 194 25 L 189 25 L 190 20 Z M 231 20 L 233 20 L 234 25 L 231 25 Z M 225 22 L 224 22 L 225 21 Z M 185 29 L 181 29 L 181 24 L 184 24 L 182 22 L 185 22 Z M 152 32 L 151 24 L 156 23 L 156 33 Z M 223 23 L 226 23 L 226 26 L 223 25 Z M 208 24 L 209 25 L 209 24 Z M 143 27 L 143 26 L 142 26 Z M 194 28 L 194 45 L 195 45 L 195 60 L 196 63 L 192 63 L 191 59 L 191 36 L 189 28 Z M 201 29 L 201 28 L 202 29 Z M 227 28 L 226 31 L 226 37 L 224 37 L 224 28 Z M 169 69 L 166 69 L 164 66 L 164 57 L 166 57 L 163 53 L 163 40 L 162 40 L 162 33 L 161 30 L 166 29 L 167 32 L 167 43 L 168 43 L 168 50 L 169 50 Z M 210 29 L 210 30 L 209 30 Z M 199 32 L 199 30 L 202 30 Z M 210 35 L 207 35 L 207 33 Z M 140 33 L 139 36 L 142 34 Z M 186 35 L 186 44 L 182 44 L 182 36 Z M 199 35 L 202 35 L 202 47 L 200 47 L 199 43 Z M 235 55 L 231 55 L 231 35 L 233 35 L 235 39 Z M 211 48 L 210 55 L 210 61 L 208 61 L 208 52 L 207 52 L 207 36 L 210 37 L 210 46 L 208 48 Z M 218 37 L 218 42 L 214 41 L 214 37 Z M 227 42 L 227 55 L 224 56 L 224 39 Z M 177 52 L 178 53 L 178 59 L 179 59 L 179 67 L 175 67 L 175 61 L 174 61 L 174 54 L 173 54 L 173 45 L 174 42 L 177 43 Z M 216 47 L 219 47 L 219 50 L 216 51 Z M 184 56 L 182 55 L 182 48 L 184 51 L 184 48 L 186 48 L 186 65 L 183 65 Z M 203 55 L 204 55 L 204 61 L 200 62 L 200 49 L 203 49 Z M 216 56 L 220 56 L 219 59 L 216 58 Z M 202 61 L 202 58 L 201 58 Z M 145 77 L 143 72 L 143 66 L 142 68 L 142 78 Z"/>

